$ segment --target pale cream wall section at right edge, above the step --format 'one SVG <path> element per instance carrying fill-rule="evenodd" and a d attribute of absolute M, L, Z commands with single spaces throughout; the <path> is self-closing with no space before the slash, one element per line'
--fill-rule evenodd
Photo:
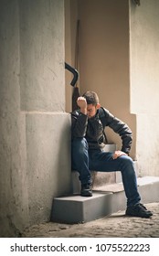
<path fill-rule="evenodd" d="M 159 175 L 159 2 L 130 1 L 131 112 L 137 117 L 136 158 L 142 176 Z"/>

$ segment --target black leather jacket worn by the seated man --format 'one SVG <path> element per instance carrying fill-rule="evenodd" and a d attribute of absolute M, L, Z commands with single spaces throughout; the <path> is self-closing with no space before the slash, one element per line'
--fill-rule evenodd
<path fill-rule="evenodd" d="M 114 117 L 111 112 L 101 108 L 104 112 L 101 118 L 101 112 L 97 111 L 96 115 L 88 118 L 87 115 L 77 110 L 71 113 L 71 133 L 74 138 L 85 137 L 89 148 L 102 148 L 105 142 L 104 128 L 109 126 L 115 133 L 122 138 L 122 152 L 129 154 L 132 146 L 132 131 L 126 123 Z"/>

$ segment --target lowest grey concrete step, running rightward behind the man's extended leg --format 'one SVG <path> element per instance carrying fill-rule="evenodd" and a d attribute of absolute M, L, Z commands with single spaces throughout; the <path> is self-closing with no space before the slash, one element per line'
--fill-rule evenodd
<path fill-rule="evenodd" d="M 137 181 L 143 204 L 159 201 L 159 177 L 138 177 Z M 80 195 L 55 197 L 51 221 L 72 224 L 87 222 L 125 208 L 126 197 L 122 183 L 110 184 L 101 190 L 93 190 L 92 197 L 80 197 Z"/>

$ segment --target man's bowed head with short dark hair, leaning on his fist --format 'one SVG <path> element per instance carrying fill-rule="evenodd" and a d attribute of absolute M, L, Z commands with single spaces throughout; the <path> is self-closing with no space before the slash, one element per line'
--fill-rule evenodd
<path fill-rule="evenodd" d="M 99 97 L 94 91 L 86 91 L 82 95 L 87 101 L 87 114 L 88 117 L 93 117 L 97 110 L 101 108 L 101 104 L 99 103 Z"/>

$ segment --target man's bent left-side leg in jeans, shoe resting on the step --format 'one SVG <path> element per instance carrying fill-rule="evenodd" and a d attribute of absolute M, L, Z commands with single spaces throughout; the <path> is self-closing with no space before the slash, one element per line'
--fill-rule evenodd
<path fill-rule="evenodd" d="M 71 144 L 72 169 L 80 173 L 81 196 L 91 197 L 91 176 L 89 169 L 88 143 L 85 138 L 76 138 Z"/>

